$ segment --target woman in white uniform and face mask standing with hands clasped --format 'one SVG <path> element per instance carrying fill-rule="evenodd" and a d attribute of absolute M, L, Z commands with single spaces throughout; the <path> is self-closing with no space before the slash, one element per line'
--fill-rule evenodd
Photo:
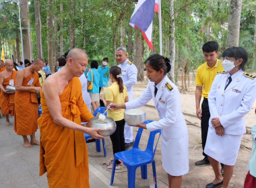
<path fill-rule="evenodd" d="M 248 53 L 241 47 L 227 48 L 223 54 L 224 71 L 218 73 L 208 95 L 211 117 L 205 144 L 215 173 L 207 188 L 228 187 L 234 164 L 245 134 L 245 115 L 251 110 L 256 97 L 255 76 L 244 73 Z M 224 177 L 220 173 L 224 164 Z"/>

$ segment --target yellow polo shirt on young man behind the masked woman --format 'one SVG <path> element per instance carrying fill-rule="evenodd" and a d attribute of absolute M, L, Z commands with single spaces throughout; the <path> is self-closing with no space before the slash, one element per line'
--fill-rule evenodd
<path fill-rule="evenodd" d="M 208 98 L 208 93 L 211 90 L 214 78 L 220 71 L 224 71 L 224 68 L 222 66 L 222 62 L 218 59 L 216 60 L 216 64 L 212 68 L 208 66 L 207 62 L 201 64 L 197 68 L 197 75 L 195 76 L 195 85 L 203 87 L 203 92 L 201 95 L 202 97 Z"/>

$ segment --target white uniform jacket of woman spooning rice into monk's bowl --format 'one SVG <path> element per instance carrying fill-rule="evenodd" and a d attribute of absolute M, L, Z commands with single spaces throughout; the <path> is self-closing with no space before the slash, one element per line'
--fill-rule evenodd
<path fill-rule="evenodd" d="M 173 88 L 171 91 L 166 87 L 166 83 L 169 83 Z M 146 90 L 139 98 L 125 103 L 126 109 L 146 105 L 153 98 L 160 120 L 147 124 L 148 130 L 162 129 L 162 137 L 164 138 L 181 138 L 187 133 L 187 125 L 181 111 L 181 94 L 178 88 L 165 76 L 156 86 L 158 92 L 154 97 L 154 85 L 154 82 L 148 83 Z"/>

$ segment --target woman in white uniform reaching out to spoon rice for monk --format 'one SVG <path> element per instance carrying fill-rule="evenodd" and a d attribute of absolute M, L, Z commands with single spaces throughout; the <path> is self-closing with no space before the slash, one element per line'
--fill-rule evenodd
<path fill-rule="evenodd" d="M 182 175 L 189 172 L 189 136 L 181 111 L 181 95 L 166 76 L 170 71 L 168 58 L 153 54 L 145 65 L 150 79 L 146 90 L 139 98 L 121 105 L 114 103 L 110 109 L 133 109 L 154 100 L 160 120 L 138 126 L 149 131 L 162 129 L 162 166 L 168 173 L 169 187 L 181 187 Z"/>

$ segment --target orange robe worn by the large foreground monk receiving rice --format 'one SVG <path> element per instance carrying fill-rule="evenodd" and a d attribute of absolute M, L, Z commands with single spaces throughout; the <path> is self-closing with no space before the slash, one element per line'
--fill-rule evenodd
<path fill-rule="evenodd" d="M 81 125 L 94 116 L 88 110 L 82 96 L 82 85 L 77 77 L 69 81 L 61 95 L 64 118 Z M 46 107 L 41 91 L 42 115 L 40 128 L 40 173 L 47 171 L 49 187 L 90 187 L 88 151 L 84 133 L 59 126 Z"/>

